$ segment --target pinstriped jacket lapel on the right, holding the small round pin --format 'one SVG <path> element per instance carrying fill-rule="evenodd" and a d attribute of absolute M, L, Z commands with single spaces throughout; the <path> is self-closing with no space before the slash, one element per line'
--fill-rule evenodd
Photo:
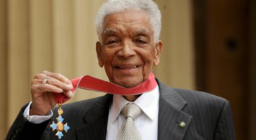
<path fill-rule="evenodd" d="M 158 139 L 183 139 L 192 119 L 191 115 L 182 111 L 186 100 L 174 89 L 164 86 L 158 80 L 157 82 L 160 89 Z M 179 127 L 181 122 L 185 122 L 186 126 Z"/>

